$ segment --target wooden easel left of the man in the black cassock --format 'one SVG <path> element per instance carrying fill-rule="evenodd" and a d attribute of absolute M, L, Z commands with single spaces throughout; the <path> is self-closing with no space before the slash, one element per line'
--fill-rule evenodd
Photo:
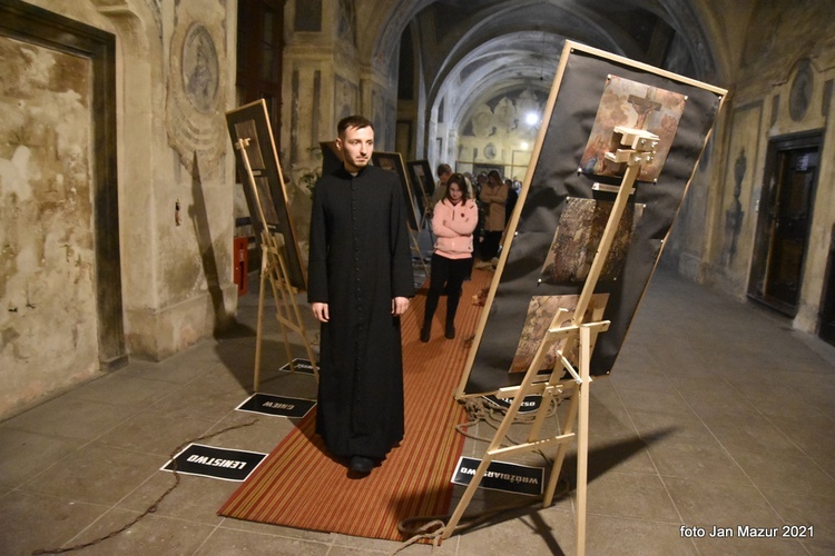
<path fill-rule="evenodd" d="M 282 336 L 284 337 L 284 349 L 287 354 L 287 361 L 293 373 L 296 367 L 293 361 L 293 351 L 289 347 L 289 337 L 287 336 L 288 330 L 298 334 L 302 337 L 305 348 L 307 349 L 307 357 L 310 358 L 311 366 L 313 367 L 313 375 L 318 381 L 318 367 L 316 365 L 316 358 L 313 355 L 313 348 L 307 339 L 307 330 L 302 320 L 302 314 L 298 310 L 296 304 L 296 290 L 293 288 L 289 281 L 289 274 L 287 272 L 287 264 L 284 260 L 284 238 L 281 235 L 275 235 L 269 231 L 266 217 L 264 216 L 264 208 L 258 197 L 258 188 L 255 185 L 255 176 L 253 175 L 253 168 L 249 163 L 249 157 L 246 155 L 246 147 L 252 141 L 250 138 L 240 138 L 235 143 L 235 148 L 240 151 L 240 157 L 244 161 L 244 168 L 246 168 L 246 175 L 249 178 L 249 187 L 252 188 L 253 197 L 257 200 L 258 206 L 258 219 L 262 225 L 261 230 L 261 282 L 258 291 L 258 324 L 257 332 L 255 335 L 255 374 L 253 378 L 253 389 L 258 391 L 261 385 L 261 353 L 263 342 L 263 321 L 264 321 L 264 298 L 265 298 L 265 284 L 269 280 L 269 286 L 273 290 L 273 299 L 275 300 L 276 319 L 282 329 Z"/>

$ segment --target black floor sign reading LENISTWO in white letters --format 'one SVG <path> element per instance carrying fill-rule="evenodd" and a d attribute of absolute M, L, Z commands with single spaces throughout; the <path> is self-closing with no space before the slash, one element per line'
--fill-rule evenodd
<path fill-rule="evenodd" d="M 265 457 L 266 454 L 257 451 L 189 444 L 186 449 L 165 464 L 161 470 L 174 471 L 176 468 L 177 473 L 184 475 L 199 475 L 222 480 L 246 480 Z"/>

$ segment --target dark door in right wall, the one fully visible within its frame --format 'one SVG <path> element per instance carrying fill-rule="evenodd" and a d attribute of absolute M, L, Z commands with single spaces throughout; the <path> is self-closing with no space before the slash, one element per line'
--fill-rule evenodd
<path fill-rule="evenodd" d="M 821 139 L 795 136 L 768 146 L 748 296 L 789 317 L 800 299 Z"/>

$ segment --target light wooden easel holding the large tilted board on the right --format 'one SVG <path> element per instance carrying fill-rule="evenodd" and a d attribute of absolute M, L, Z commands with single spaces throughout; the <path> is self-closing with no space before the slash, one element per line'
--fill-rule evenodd
<path fill-rule="evenodd" d="M 455 532 L 458 523 L 461 520 L 466 506 L 472 500 L 475 490 L 481 483 L 490 464 L 501 456 L 511 454 L 521 454 L 543 449 L 550 446 L 559 446 L 557 457 L 551 467 L 551 474 L 543 493 L 542 507 L 548 507 L 553 500 L 553 494 L 557 489 L 562 461 L 566 458 L 569 443 L 577 437 L 577 550 L 578 555 L 586 554 L 586 502 L 588 486 L 588 453 L 589 453 L 589 388 L 591 386 L 591 375 L 589 364 L 591 353 L 595 346 L 597 335 L 608 330 L 610 322 L 608 320 L 598 320 L 593 322 L 583 322 L 587 309 L 595 294 L 598 279 L 602 272 L 603 265 L 611 249 L 615 235 L 623 210 L 626 209 L 629 196 L 635 191 L 633 185 L 638 177 L 641 163 L 651 161 L 659 138 L 650 132 L 630 129 L 625 127 L 615 128 L 615 139 L 617 145 L 621 146 L 615 152 L 607 152 L 607 160 L 615 163 L 625 163 L 626 172 L 618 189 L 618 196 L 612 206 L 609 220 L 606 224 L 598 251 L 591 264 L 591 269 L 583 285 L 580 297 L 577 301 L 577 309 L 571 318 L 569 326 L 560 326 L 566 318 L 566 309 L 559 311 L 551 320 L 542 342 L 537 350 L 533 361 L 524 374 L 524 378 L 519 386 L 501 388 L 497 395 L 502 398 L 513 398 L 504 418 L 493 436 L 484 457 L 475 470 L 475 475 L 461 497 L 455 510 L 450 517 L 449 523 L 443 529 L 442 538 L 449 538 Z M 564 339 L 562 349 L 558 351 L 558 363 L 554 365 L 552 373 L 548 376 L 539 376 L 548 351 L 558 340 Z M 569 354 L 574 353 L 579 346 L 578 369 L 574 363 L 569 360 Z M 569 379 L 563 379 L 564 371 L 570 375 Z M 548 415 L 551 399 L 554 396 L 561 396 L 563 393 L 573 390 L 570 395 L 570 405 L 566 421 L 561 430 L 556 436 L 540 438 L 540 433 L 544 418 Z M 502 440 L 508 434 L 510 426 L 517 418 L 522 407 L 522 401 L 527 396 L 539 394 L 542 396 L 542 403 L 537 410 L 536 417 L 531 424 L 531 429 L 527 441 L 510 446 L 501 447 Z M 577 433 L 574 433 L 577 425 Z"/>

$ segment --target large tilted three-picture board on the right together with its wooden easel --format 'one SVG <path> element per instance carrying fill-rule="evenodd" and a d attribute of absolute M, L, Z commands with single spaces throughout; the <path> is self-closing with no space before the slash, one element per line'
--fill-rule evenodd
<path fill-rule="evenodd" d="M 576 438 L 576 554 L 586 554 L 592 375 L 611 370 L 726 93 L 566 42 L 455 394 L 513 401 L 442 538 L 498 457 L 558 447 L 542 498 L 550 506 Z M 507 446 L 532 394 L 542 399 L 527 440 Z M 558 430 L 544 434 L 552 401 L 563 398 Z"/>

